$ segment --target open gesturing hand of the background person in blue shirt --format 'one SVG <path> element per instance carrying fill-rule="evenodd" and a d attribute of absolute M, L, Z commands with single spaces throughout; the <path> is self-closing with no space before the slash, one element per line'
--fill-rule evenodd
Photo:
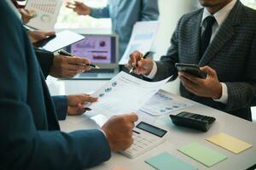
<path fill-rule="evenodd" d="M 85 5 L 84 3 L 74 1 L 73 3 L 67 3 L 67 8 L 72 8 L 73 12 L 76 12 L 79 15 L 87 15 L 91 13 L 91 8 Z"/>

